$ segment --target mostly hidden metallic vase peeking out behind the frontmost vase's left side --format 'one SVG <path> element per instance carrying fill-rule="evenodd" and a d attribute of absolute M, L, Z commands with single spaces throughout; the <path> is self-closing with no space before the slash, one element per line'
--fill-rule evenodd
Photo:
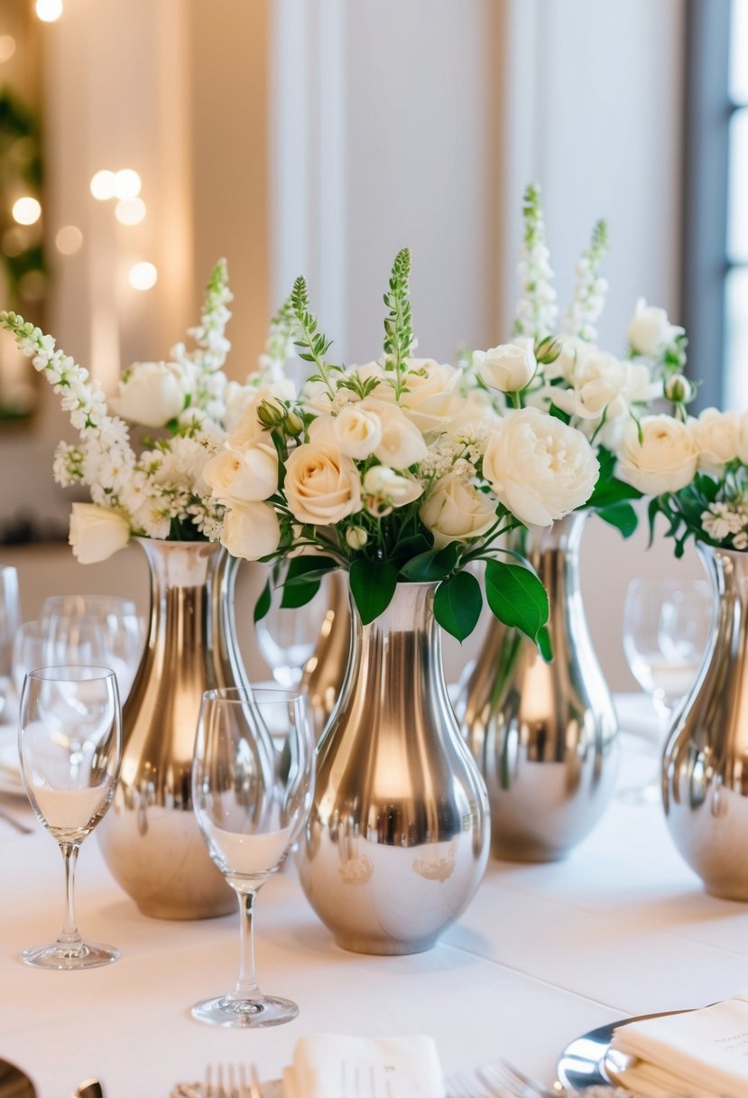
<path fill-rule="evenodd" d="M 348 582 L 342 571 L 325 578 L 330 604 L 319 639 L 304 669 L 302 690 L 311 706 L 317 737 L 320 737 L 340 697 L 351 650 L 351 615 L 348 608 Z M 302 613 L 304 613 L 302 610 Z"/>

